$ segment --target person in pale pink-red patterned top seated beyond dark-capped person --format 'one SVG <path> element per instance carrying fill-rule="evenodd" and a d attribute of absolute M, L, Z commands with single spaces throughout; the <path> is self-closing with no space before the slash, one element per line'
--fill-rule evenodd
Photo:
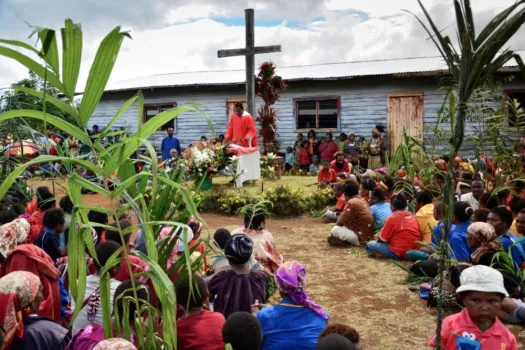
<path fill-rule="evenodd" d="M 234 230 L 232 235 L 245 234 L 253 241 L 253 255 L 272 275 L 284 259 L 277 251 L 273 235 L 266 230 L 266 217 L 256 208 L 248 208 L 244 214 L 244 226 Z"/>

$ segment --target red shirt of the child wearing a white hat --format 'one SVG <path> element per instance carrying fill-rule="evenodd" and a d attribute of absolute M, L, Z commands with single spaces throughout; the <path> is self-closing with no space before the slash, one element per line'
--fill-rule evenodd
<path fill-rule="evenodd" d="M 492 327 L 482 332 L 472 322 L 467 309 L 448 316 L 443 321 L 441 328 L 441 347 L 444 350 L 457 350 L 458 337 L 468 335 L 471 340 L 481 343 L 481 350 L 518 350 L 516 337 L 496 317 Z M 429 346 L 436 345 L 436 339 L 430 339 Z M 474 348 L 474 347 L 472 347 Z"/>

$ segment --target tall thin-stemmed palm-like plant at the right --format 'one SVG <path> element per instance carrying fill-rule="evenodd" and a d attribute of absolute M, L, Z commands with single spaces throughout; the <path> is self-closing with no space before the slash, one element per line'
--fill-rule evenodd
<path fill-rule="evenodd" d="M 448 256 L 449 223 L 454 216 L 454 190 L 452 187 L 454 178 L 454 158 L 458 154 L 465 135 L 465 120 L 467 117 L 468 103 L 476 89 L 483 86 L 487 79 L 503 67 L 503 65 L 515 59 L 525 74 L 525 65 L 521 57 L 511 50 L 503 49 L 504 45 L 525 22 L 525 1 L 520 0 L 509 6 L 487 26 L 477 34 L 474 28 L 474 19 L 470 0 L 454 0 L 456 12 L 456 29 L 459 41 L 459 50 L 453 45 L 448 36 L 443 36 L 441 30 L 436 26 L 421 0 L 418 0 L 421 9 L 427 19 L 430 28 L 419 18 L 423 28 L 432 38 L 441 56 L 447 63 L 451 75 L 451 90 L 448 98 L 454 99 L 449 110 L 452 137 L 449 141 L 449 172 L 445 177 L 443 195 L 443 213 L 445 219 L 445 230 L 441 244 L 442 258 L 440 259 L 440 283 L 439 291 L 443 290 L 443 273 Z M 516 13 L 514 13 L 517 11 Z M 514 14 L 513 14 L 514 13 Z M 457 103 L 455 102 L 457 101 Z M 437 317 L 437 349 L 441 349 L 441 322 L 443 320 L 443 304 L 438 303 Z"/>

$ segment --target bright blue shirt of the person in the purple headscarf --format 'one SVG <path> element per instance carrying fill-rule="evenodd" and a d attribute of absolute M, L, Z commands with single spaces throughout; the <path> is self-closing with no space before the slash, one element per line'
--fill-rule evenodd
<path fill-rule="evenodd" d="M 261 350 L 315 350 L 327 320 L 306 307 L 294 307 L 291 298 L 257 313 L 263 331 Z"/>

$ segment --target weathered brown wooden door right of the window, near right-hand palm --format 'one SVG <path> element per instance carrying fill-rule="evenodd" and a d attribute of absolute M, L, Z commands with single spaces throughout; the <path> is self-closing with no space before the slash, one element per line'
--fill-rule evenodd
<path fill-rule="evenodd" d="M 390 153 L 403 142 L 403 130 L 423 141 L 423 93 L 389 94 L 387 109 Z"/>

